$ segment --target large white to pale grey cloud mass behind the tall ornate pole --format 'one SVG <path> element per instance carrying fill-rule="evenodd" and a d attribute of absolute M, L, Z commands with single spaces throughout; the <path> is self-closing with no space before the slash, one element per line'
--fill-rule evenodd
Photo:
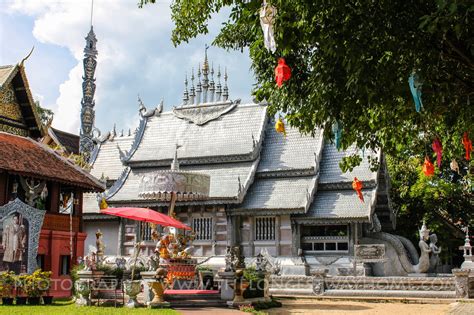
<path fill-rule="evenodd" d="M 66 47 L 76 60 L 69 75 L 59 87 L 54 126 L 69 132 L 79 130 L 82 98 L 82 58 L 84 37 L 89 31 L 89 1 L 15 0 L 10 12 L 33 16 L 35 38 L 46 44 Z M 173 27 L 169 3 L 159 1 L 139 9 L 136 1 L 95 1 L 94 31 L 99 52 L 96 70 L 96 126 L 106 131 L 114 123 L 117 129 L 136 126 L 137 94 L 144 103 L 156 106 L 161 98 L 165 107 L 179 104 L 182 96 L 184 73 L 197 67 L 202 60 L 204 44 L 212 37 L 192 40 L 174 48 L 170 34 Z M 216 27 L 219 22 L 212 23 Z M 231 98 L 250 100 L 252 75 L 247 70 L 247 54 L 227 53 L 217 48 L 209 50 L 209 58 L 227 65 Z M 44 65 L 47 66 L 47 65 Z M 28 73 L 28 76 L 34 76 Z M 34 91 L 35 94 L 42 91 Z"/>

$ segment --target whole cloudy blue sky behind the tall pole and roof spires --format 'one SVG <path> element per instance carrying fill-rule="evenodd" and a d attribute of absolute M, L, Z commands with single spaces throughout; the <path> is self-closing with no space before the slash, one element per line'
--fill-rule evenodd
<path fill-rule="evenodd" d="M 95 0 L 93 25 L 99 52 L 96 70 L 96 126 L 127 130 L 138 124 L 137 95 L 147 107 L 163 98 L 165 109 L 179 105 L 184 75 L 204 58 L 225 14 L 211 34 L 175 48 L 170 1 L 143 9 L 134 0 Z M 84 37 L 90 29 L 90 1 L 0 0 L 0 64 L 15 64 L 32 46 L 26 62 L 30 88 L 42 106 L 55 112 L 53 126 L 79 131 Z M 230 98 L 251 101 L 254 83 L 248 53 L 211 47 L 210 61 L 227 67 Z"/>

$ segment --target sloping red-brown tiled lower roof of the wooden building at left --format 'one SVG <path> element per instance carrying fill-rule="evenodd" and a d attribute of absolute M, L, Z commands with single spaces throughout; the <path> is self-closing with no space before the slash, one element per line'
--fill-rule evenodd
<path fill-rule="evenodd" d="M 0 170 L 103 191 L 104 185 L 78 166 L 30 138 L 0 132 Z"/>

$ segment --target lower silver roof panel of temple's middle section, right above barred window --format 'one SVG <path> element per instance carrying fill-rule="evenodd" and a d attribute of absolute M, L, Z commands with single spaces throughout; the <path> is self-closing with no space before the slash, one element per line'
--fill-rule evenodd
<path fill-rule="evenodd" d="M 285 213 L 304 213 L 316 188 L 317 176 L 289 178 L 258 178 L 234 213 L 265 210 L 284 210 Z"/>

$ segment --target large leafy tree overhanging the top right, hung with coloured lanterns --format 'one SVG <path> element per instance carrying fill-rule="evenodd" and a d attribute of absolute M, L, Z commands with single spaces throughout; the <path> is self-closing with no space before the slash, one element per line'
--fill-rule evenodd
<path fill-rule="evenodd" d="M 141 0 L 139 5 L 154 3 Z M 248 48 L 258 100 L 311 133 L 342 126 L 342 149 L 382 148 L 394 156 L 424 154 L 439 137 L 447 158 L 462 156 L 461 137 L 474 136 L 474 3 L 468 0 L 285 1 L 278 9 L 275 54 L 265 49 L 258 11 L 262 1 L 175 0 L 175 45 L 208 32 L 208 21 L 230 7 L 213 44 Z M 277 88 L 274 68 L 284 57 L 292 78 Z M 422 81 L 415 111 L 408 77 Z M 342 163 L 347 170 L 357 158 Z"/>

